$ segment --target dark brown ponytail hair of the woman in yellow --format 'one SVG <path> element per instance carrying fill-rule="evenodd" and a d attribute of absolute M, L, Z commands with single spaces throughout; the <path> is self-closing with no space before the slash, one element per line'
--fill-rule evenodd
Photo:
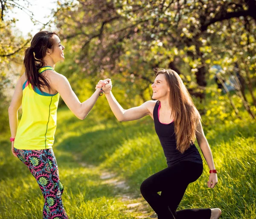
<path fill-rule="evenodd" d="M 31 46 L 26 49 L 24 57 L 25 74 L 29 84 L 37 87 L 41 92 L 41 88 L 46 86 L 50 91 L 50 85 L 47 79 L 38 73 L 38 69 L 42 68 L 45 63 L 43 58 L 46 56 L 47 48 L 51 49 L 54 45 L 53 35 L 55 32 L 40 31 L 33 37 Z"/>

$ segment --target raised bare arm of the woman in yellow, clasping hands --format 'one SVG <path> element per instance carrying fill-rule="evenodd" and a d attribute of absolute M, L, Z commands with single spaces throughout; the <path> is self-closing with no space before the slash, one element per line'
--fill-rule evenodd
<path fill-rule="evenodd" d="M 93 95 L 84 102 L 80 102 L 74 91 L 72 90 L 67 78 L 61 74 L 55 73 L 51 78 L 51 86 L 59 92 L 62 99 L 70 108 L 70 110 L 79 119 L 84 119 L 89 114 L 90 110 L 95 105 L 100 94 L 100 88 L 97 88 Z M 106 90 L 111 90 L 111 85 L 106 85 Z"/>

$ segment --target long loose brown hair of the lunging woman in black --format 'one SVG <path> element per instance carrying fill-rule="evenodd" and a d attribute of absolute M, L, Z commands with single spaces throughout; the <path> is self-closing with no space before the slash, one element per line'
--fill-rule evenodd
<path fill-rule="evenodd" d="M 163 74 L 169 84 L 169 102 L 174 117 L 177 150 L 182 154 L 195 141 L 196 127 L 201 119 L 180 76 L 172 69 L 155 68 L 156 77 Z"/>

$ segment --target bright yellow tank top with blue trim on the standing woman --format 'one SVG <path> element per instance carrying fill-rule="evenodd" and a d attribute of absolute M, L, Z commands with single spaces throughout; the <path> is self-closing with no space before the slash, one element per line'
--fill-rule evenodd
<path fill-rule="evenodd" d="M 39 74 L 53 70 L 46 66 Z M 52 148 L 56 131 L 59 93 L 48 94 L 37 87 L 32 88 L 26 81 L 23 84 L 22 116 L 17 128 L 14 147 L 23 150 Z"/>

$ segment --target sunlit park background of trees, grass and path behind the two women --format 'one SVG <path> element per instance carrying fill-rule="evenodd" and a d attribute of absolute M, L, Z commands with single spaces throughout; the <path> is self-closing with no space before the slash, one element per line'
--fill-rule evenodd
<path fill-rule="evenodd" d="M 42 217 L 43 196 L 11 154 L 8 122 L 24 48 L 41 29 L 58 32 L 65 61 L 55 70 L 81 102 L 98 80 L 111 78 L 123 108 L 138 106 L 151 100 L 153 68 L 180 74 L 201 113 L 218 185 L 207 188 L 204 160 L 178 210 L 218 207 L 222 218 L 256 219 L 254 0 L 52 0 L 44 19 L 36 17 L 45 12 L 36 2 L 0 0 L 1 219 Z M 24 13 L 30 31 L 19 21 Z M 117 122 L 102 96 L 79 120 L 61 100 L 54 151 L 70 219 L 156 217 L 140 195 L 141 182 L 166 167 L 151 118 Z"/>

